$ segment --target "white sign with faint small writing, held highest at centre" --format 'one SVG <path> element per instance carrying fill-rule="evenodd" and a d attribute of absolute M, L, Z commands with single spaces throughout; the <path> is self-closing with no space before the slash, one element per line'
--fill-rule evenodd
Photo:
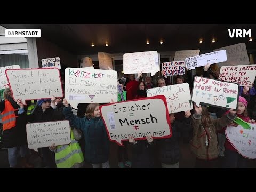
<path fill-rule="evenodd" d="M 124 74 L 151 73 L 159 71 L 157 51 L 145 51 L 124 54 Z"/>

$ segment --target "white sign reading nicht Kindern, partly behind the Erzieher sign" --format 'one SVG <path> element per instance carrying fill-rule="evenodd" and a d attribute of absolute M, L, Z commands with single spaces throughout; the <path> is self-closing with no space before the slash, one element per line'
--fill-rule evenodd
<path fill-rule="evenodd" d="M 193 109 L 188 83 L 156 87 L 147 90 L 147 96 L 164 95 L 169 114 Z"/>

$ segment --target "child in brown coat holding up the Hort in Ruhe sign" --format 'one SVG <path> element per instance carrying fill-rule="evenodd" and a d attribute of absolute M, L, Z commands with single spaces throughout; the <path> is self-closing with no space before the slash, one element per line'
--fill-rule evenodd
<path fill-rule="evenodd" d="M 195 104 L 195 114 L 192 118 L 193 136 L 191 150 L 196 154 L 196 167 L 217 167 L 218 141 L 216 130 L 222 129 L 236 118 L 236 111 L 229 110 L 229 114 L 218 119 L 210 117 L 206 107 Z"/>

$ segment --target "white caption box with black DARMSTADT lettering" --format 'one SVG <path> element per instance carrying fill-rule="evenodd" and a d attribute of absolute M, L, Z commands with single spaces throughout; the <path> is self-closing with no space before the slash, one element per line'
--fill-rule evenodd
<path fill-rule="evenodd" d="M 5 37 L 41 37 L 41 29 L 5 29 Z"/>

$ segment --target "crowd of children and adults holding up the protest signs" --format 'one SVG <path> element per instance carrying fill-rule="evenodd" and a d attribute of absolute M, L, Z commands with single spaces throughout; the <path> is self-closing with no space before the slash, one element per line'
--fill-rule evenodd
<path fill-rule="evenodd" d="M 211 73 L 209 68 L 210 65 L 204 66 L 202 76 L 218 79 L 219 71 Z M 146 90 L 170 84 L 164 78 L 159 78 L 157 85 L 151 82 L 150 77 L 146 77 L 143 82 L 140 81 L 141 75 L 142 73 L 137 74 L 136 78 L 134 74 L 129 75 L 121 86 L 123 91 L 119 93 L 118 101 L 145 98 Z M 187 71 L 186 78 L 175 77 L 176 84 L 185 82 L 192 87 L 193 78 L 190 71 Z M 194 104 L 191 111 L 169 114 L 172 127 L 170 138 L 154 139 L 148 136 L 145 140 L 134 140 L 133 137 L 129 137 L 129 140 L 124 142 L 124 147 L 118 146 L 118 166 L 179 168 L 180 138 L 183 138 L 183 142 L 190 145 L 191 151 L 196 155 L 195 167 L 247 167 L 251 160 L 236 151 L 226 139 L 225 129 L 228 125 L 237 126 L 233 122 L 236 117 L 245 122 L 255 123 L 255 85 L 241 87 L 239 95 L 237 110 Z M 110 141 L 101 118 L 99 103 L 83 106 L 82 115 L 74 115 L 68 100 L 56 99 L 54 95 L 51 99 L 26 101 L 24 105 L 20 99 L 14 101 L 10 89 L 5 89 L 4 99 L 0 102 L 3 147 L 8 149 L 10 167 L 33 167 L 28 162 L 32 152 L 27 145 L 27 123 L 63 119 L 70 123 L 71 143 L 60 146 L 52 143 L 49 147 L 38 148 L 42 167 L 84 167 L 85 162 L 93 168 L 110 167 Z M 129 149 L 132 153 L 131 158 Z"/>

